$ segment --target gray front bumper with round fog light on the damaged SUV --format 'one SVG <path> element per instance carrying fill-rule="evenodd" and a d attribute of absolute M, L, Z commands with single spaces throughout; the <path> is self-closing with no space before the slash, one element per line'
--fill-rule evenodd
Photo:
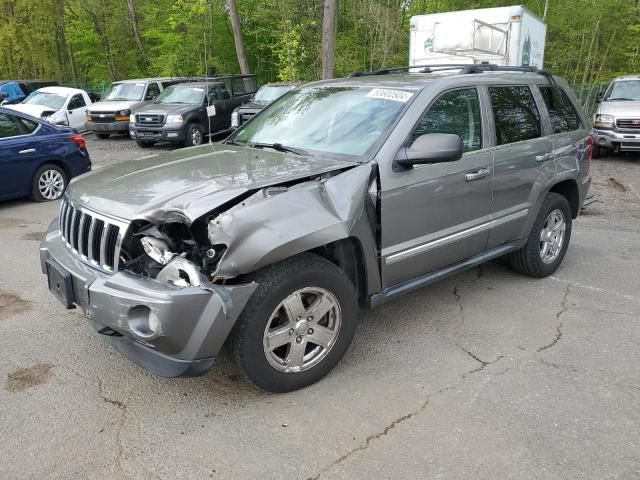
<path fill-rule="evenodd" d="M 43 273 L 55 262 L 71 276 L 73 303 L 118 351 L 163 377 L 205 373 L 257 285 L 172 288 L 126 271 L 108 275 L 66 247 L 58 222 L 40 245 Z M 155 315 L 160 328 L 144 327 Z"/>

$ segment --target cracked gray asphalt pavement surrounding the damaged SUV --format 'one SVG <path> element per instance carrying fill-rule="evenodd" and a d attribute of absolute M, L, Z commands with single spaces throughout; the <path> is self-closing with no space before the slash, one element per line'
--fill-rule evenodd
<path fill-rule="evenodd" d="M 168 147 L 88 148 L 101 168 Z M 284 395 L 227 354 L 196 379 L 133 365 L 47 291 L 58 203 L 0 204 L 0 478 L 640 478 L 640 155 L 592 174 L 554 276 L 490 263 L 365 312 Z"/>

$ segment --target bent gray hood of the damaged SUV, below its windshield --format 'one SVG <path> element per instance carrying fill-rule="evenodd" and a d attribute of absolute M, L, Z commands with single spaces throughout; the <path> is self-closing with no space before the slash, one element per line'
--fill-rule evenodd
<path fill-rule="evenodd" d="M 355 166 L 269 150 L 207 144 L 150 155 L 74 179 L 74 203 L 125 220 L 186 220 L 254 189 Z"/>

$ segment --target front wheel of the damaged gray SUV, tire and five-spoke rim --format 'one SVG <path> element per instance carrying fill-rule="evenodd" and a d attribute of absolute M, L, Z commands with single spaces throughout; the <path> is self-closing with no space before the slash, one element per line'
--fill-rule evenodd
<path fill-rule="evenodd" d="M 347 351 L 358 321 L 356 290 L 344 272 L 318 255 L 305 253 L 265 267 L 250 277 L 258 288 L 228 342 L 234 360 L 249 380 L 269 392 L 290 392 L 327 375 Z M 295 297 L 295 293 L 300 296 Z M 320 300 L 330 308 L 325 307 L 327 313 L 319 321 L 309 320 Z M 285 301 L 293 307 L 287 310 Z M 296 311 L 296 304 L 306 311 L 301 320 L 289 323 L 287 311 Z M 279 332 L 278 337 L 273 332 Z M 314 343 L 314 335 L 315 341 L 328 347 Z M 281 346 L 269 347 L 270 337 Z M 325 342 L 328 338 L 331 341 Z M 294 362 L 295 353 L 300 351 L 304 356 Z"/>

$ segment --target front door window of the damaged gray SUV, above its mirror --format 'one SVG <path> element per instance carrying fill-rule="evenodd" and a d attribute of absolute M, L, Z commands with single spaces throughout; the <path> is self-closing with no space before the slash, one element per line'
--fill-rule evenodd
<path fill-rule="evenodd" d="M 411 133 L 411 141 L 427 133 L 458 135 L 465 152 L 482 148 L 482 121 L 476 89 L 452 90 L 433 102 Z"/>

